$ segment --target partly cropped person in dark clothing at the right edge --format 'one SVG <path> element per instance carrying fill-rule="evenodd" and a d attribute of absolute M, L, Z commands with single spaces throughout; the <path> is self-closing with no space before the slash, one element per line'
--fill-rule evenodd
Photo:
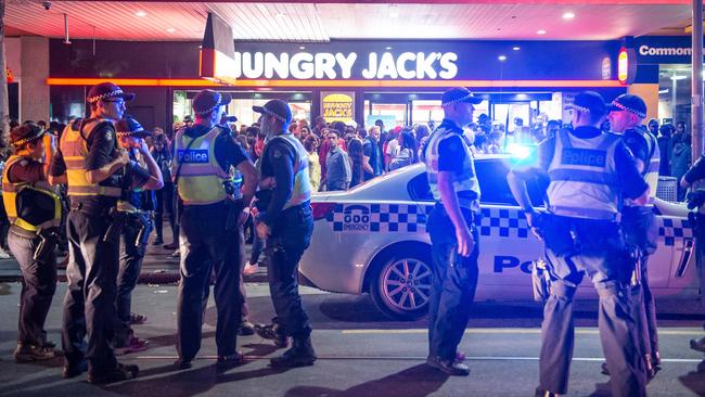
<path fill-rule="evenodd" d="M 702 183 L 701 180 L 705 179 L 705 157 L 701 156 L 695 164 L 683 175 L 680 180 L 680 187 L 688 189 L 695 183 Z M 700 298 L 701 304 L 705 307 L 705 191 L 698 189 L 695 193 L 689 195 L 688 207 L 697 207 L 697 214 L 694 217 L 694 234 L 695 234 L 695 267 L 697 272 L 697 280 L 700 281 Z M 705 329 L 705 322 L 703 323 Z M 705 337 L 700 340 L 691 340 L 690 347 L 694 350 L 705 353 Z"/>

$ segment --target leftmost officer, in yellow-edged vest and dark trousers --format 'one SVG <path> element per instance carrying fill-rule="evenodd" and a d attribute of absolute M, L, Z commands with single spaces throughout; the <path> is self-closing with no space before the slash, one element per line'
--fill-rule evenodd
<path fill-rule="evenodd" d="M 8 245 L 20 262 L 20 334 L 16 362 L 54 358 L 54 344 L 47 341 L 44 321 L 56 291 L 56 243 L 61 223 L 61 198 L 49 185 L 49 165 L 56 152 L 51 133 L 35 124 L 10 131 L 14 155 L 2 175 L 2 200 L 10 231 Z"/>

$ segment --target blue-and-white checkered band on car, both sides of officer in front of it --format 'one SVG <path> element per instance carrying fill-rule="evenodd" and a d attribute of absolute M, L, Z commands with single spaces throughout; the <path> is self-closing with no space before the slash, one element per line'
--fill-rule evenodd
<path fill-rule="evenodd" d="M 326 218 L 336 232 L 425 232 L 432 204 L 337 204 Z M 528 226 L 517 208 L 482 209 L 479 234 L 526 239 Z"/>

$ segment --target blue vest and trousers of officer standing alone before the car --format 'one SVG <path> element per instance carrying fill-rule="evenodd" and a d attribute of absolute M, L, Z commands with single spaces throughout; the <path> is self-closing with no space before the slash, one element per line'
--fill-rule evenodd
<path fill-rule="evenodd" d="M 436 200 L 426 229 L 433 245 L 433 290 L 428 307 L 428 358 L 445 362 L 456 359 L 477 287 L 479 239 L 474 219 L 479 212 L 479 184 L 470 143 L 463 129 L 444 119 L 430 137 L 422 153 L 428 185 Z M 453 187 L 475 245 L 467 257 L 458 255 L 454 226 L 443 206 L 437 176 L 450 171 Z"/>

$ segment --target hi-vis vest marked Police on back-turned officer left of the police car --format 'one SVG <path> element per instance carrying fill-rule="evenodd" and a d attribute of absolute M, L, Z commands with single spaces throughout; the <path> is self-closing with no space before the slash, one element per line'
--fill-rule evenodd
<path fill-rule="evenodd" d="M 230 175 L 218 164 L 215 155 L 216 139 L 222 129 L 216 126 L 196 138 L 184 132 L 185 129 L 178 131 L 175 138 L 176 155 L 171 165 L 171 175 L 176 176 L 179 170 L 177 185 L 183 204 L 207 205 L 226 200 L 228 195 L 222 183 L 230 179 Z M 183 164 L 181 169 L 180 164 Z"/>

